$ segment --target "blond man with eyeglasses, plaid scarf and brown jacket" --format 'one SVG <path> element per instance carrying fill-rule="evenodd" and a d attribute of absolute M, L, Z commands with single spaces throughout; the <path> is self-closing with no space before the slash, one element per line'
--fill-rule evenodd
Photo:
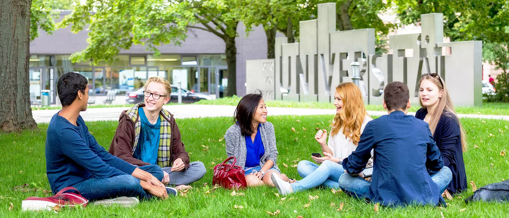
<path fill-rule="evenodd" d="M 144 88 L 144 102 L 120 115 L 108 152 L 132 165 L 159 165 L 164 171 L 162 183 L 188 189 L 206 169 L 202 162 L 189 163 L 175 118 L 162 108 L 172 86 L 162 77 L 151 77 Z"/>

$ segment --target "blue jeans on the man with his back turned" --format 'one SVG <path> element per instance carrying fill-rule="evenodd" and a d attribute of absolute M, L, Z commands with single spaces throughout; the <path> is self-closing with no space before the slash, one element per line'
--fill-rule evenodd
<path fill-rule="evenodd" d="M 437 173 L 431 174 L 431 179 L 438 185 L 440 194 L 442 194 L 450 181 L 453 180 L 453 172 L 448 167 L 443 167 Z M 338 181 L 341 189 L 350 196 L 358 199 L 364 199 L 364 195 L 370 190 L 371 182 L 358 176 L 352 176 L 345 173 L 341 175 Z"/>

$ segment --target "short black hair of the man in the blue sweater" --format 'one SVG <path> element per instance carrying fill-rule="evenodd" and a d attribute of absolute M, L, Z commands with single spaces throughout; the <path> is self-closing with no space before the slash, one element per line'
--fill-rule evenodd
<path fill-rule="evenodd" d="M 69 72 L 62 75 L 56 83 L 56 91 L 59 94 L 62 107 L 71 105 L 78 96 L 78 90 L 85 94 L 89 81 L 81 74 Z"/>

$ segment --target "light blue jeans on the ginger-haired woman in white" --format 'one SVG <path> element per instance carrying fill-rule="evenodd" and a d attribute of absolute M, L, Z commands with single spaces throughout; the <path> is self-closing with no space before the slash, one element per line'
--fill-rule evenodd
<path fill-rule="evenodd" d="M 310 162 L 301 161 L 297 165 L 297 172 L 303 177 L 302 180 L 291 183 L 294 192 L 312 189 L 320 185 L 327 188 L 339 189 L 341 174 L 345 173 L 343 166 L 332 161 L 324 161 L 320 166 Z"/>

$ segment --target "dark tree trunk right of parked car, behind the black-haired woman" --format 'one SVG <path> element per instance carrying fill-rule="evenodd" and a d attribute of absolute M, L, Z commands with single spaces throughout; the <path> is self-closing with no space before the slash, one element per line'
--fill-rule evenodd
<path fill-rule="evenodd" d="M 235 36 L 231 37 L 227 34 L 224 35 L 224 42 L 226 43 L 226 62 L 228 65 L 228 86 L 226 87 L 224 96 L 237 95 L 237 46 L 235 45 Z M 220 81 L 221 78 L 219 78 Z"/>

